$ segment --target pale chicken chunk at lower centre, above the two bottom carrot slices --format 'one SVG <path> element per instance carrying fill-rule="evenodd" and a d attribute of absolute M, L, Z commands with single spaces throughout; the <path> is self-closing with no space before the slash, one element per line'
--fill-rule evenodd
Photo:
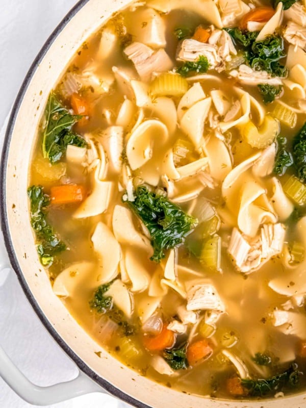
<path fill-rule="evenodd" d="M 187 293 L 187 310 L 216 310 L 225 312 L 225 306 L 211 283 L 194 285 Z"/>

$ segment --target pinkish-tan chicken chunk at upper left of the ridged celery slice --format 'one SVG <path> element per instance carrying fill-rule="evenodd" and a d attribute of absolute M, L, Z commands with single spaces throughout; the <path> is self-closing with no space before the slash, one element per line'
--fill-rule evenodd
<path fill-rule="evenodd" d="M 124 49 L 124 54 L 133 62 L 142 81 L 149 81 L 154 72 L 173 68 L 173 63 L 163 48 L 154 52 L 147 45 L 133 42 Z"/>

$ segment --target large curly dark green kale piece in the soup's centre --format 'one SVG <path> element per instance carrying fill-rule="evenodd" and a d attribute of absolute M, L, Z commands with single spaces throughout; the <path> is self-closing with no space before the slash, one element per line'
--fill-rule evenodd
<path fill-rule="evenodd" d="M 166 197 L 151 193 L 145 186 L 137 188 L 135 201 L 125 202 L 148 228 L 154 248 L 152 261 L 160 262 L 167 249 L 183 243 L 197 222 Z"/>

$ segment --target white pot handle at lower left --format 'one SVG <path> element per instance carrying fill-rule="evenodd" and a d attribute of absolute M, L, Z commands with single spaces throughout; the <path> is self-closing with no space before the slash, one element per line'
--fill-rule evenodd
<path fill-rule="evenodd" d="M 10 261 L 1 236 L 0 230 L 0 275 L 10 268 Z M 93 392 L 105 392 L 92 379 L 82 371 L 76 378 L 55 384 L 49 387 L 39 387 L 25 377 L 15 366 L 0 345 L 0 377 L 18 394 L 22 399 L 33 405 L 52 405 L 58 402 L 78 397 Z"/>

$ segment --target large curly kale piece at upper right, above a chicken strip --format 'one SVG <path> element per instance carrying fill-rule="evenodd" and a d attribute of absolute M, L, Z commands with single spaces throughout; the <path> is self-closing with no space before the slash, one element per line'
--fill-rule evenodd
<path fill-rule="evenodd" d="M 256 41 L 257 31 L 242 31 L 237 27 L 224 30 L 241 46 L 245 61 L 251 68 L 265 70 L 272 77 L 286 77 L 288 69 L 279 63 L 286 56 L 282 37 L 269 35 L 262 41 Z"/>

